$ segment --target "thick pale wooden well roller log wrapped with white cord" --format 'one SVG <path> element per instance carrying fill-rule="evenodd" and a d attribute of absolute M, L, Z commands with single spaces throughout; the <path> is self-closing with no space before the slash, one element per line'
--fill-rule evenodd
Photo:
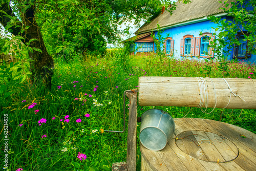
<path fill-rule="evenodd" d="M 201 105 L 205 108 L 208 100 L 207 108 L 256 109 L 255 81 L 244 78 L 140 77 L 139 105 Z"/>

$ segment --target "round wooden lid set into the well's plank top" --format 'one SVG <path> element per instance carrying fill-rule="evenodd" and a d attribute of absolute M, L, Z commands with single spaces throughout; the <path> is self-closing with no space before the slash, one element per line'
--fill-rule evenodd
<path fill-rule="evenodd" d="M 201 130 L 184 131 L 176 136 L 176 145 L 197 159 L 225 163 L 238 157 L 237 146 L 222 135 Z"/>

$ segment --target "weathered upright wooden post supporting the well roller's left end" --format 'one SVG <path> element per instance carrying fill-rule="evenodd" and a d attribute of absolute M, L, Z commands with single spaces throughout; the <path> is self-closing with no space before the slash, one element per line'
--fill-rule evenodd
<path fill-rule="evenodd" d="M 137 93 L 126 92 L 130 101 L 128 135 L 127 135 L 127 169 L 136 170 L 136 150 L 137 150 Z"/>

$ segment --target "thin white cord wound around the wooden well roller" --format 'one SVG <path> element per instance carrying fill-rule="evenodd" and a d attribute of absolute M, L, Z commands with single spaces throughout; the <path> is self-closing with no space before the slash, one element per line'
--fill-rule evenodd
<path fill-rule="evenodd" d="M 217 94 L 216 94 L 216 89 L 215 89 L 214 81 L 212 81 L 211 78 L 207 77 L 207 78 L 209 78 L 210 81 L 211 81 L 212 87 L 213 87 L 213 89 L 214 89 L 214 94 L 215 94 L 215 106 L 214 106 L 214 109 L 212 109 L 211 112 L 207 113 L 206 110 L 207 110 L 208 103 L 209 103 L 207 82 L 206 82 L 206 80 L 205 80 L 203 77 L 196 77 L 196 78 L 197 78 L 198 83 L 199 83 L 199 91 L 200 91 L 200 102 L 199 102 L 197 108 L 202 108 L 203 103 L 205 103 L 205 106 L 204 106 L 205 111 L 203 111 L 202 109 L 201 109 L 201 111 L 204 112 L 204 113 L 206 113 L 206 114 L 210 114 L 210 113 L 212 113 L 212 112 L 215 110 L 215 108 L 216 108 L 216 106 L 217 106 Z M 228 82 L 227 82 L 224 78 L 222 78 L 222 79 L 226 82 L 226 84 L 227 84 L 227 86 L 228 86 L 228 89 L 229 89 L 229 91 L 230 91 L 229 101 L 228 101 L 227 105 L 223 108 L 223 109 L 225 109 L 225 108 L 228 106 L 228 104 L 230 103 L 231 94 L 233 94 L 235 97 L 237 97 L 237 96 L 240 97 L 240 96 L 237 95 L 237 94 L 234 94 L 234 92 L 233 92 L 232 89 L 230 88 Z M 240 98 L 245 102 L 245 100 L 244 100 L 242 97 L 240 97 Z"/>

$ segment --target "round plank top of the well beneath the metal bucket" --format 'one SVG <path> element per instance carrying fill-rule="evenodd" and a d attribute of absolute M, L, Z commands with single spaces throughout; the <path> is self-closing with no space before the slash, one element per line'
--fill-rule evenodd
<path fill-rule="evenodd" d="M 140 144 L 141 170 L 256 170 L 255 134 L 214 120 L 174 120 L 174 135 L 161 151 Z"/>

